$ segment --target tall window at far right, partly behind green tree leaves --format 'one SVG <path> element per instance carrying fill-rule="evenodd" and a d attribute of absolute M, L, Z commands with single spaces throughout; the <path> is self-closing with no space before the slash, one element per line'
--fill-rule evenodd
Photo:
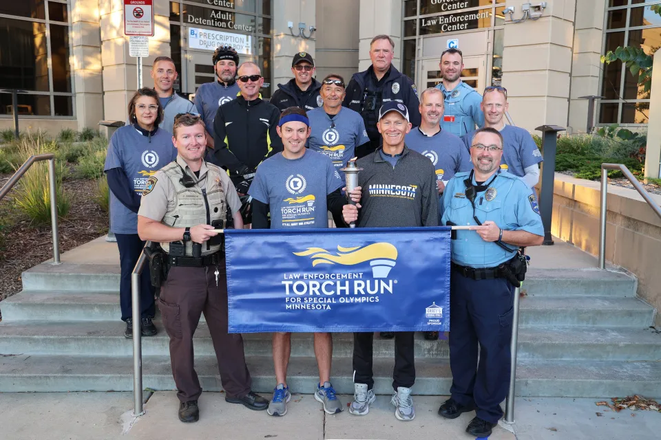
<path fill-rule="evenodd" d="M 653 55 L 661 46 L 661 16 L 651 10 L 659 0 L 609 0 L 606 34 L 602 53 L 618 47 L 640 47 Z M 621 61 L 602 66 L 600 124 L 647 124 L 649 91 L 638 85 L 638 74 L 631 74 Z"/>

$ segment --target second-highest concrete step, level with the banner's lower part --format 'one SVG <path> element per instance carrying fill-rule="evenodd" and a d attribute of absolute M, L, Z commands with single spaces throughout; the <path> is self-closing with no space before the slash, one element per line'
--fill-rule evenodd
<path fill-rule="evenodd" d="M 24 290 L 4 300 L 2 310 L 6 322 L 106 321 L 120 317 L 119 294 L 115 292 Z M 522 326 L 647 327 L 654 313 L 649 305 L 629 297 L 527 296 L 521 300 Z"/>

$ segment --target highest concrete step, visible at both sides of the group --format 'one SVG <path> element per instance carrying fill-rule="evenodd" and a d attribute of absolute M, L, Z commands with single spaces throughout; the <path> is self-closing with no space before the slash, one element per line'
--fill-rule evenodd
<path fill-rule="evenodd" d="M 118 292 L 117 265 L 42 263 L 23 272 L 23 289 Z M 597 269 L 529 268 L 523 289 L 535 296 L 636 296 L 636 278 Z"/>

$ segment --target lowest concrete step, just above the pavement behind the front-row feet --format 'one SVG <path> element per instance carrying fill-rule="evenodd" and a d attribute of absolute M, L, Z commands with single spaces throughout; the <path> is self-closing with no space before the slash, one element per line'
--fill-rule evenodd
<path fill-rule="evenodd" d="M 253 391 L 271 393 L 275 382 L 270 357 L 246 358 Z M 392 393 L 391 358 L 374 363 L 377 394 Z M 202 388 L 221 391 L 216 358 L 196 357 Z M 293 393 L 311 394 L 317 377 L 315 358 L 292 358 L 288 385 Z M 416 395 L 448 395 L 452 375 L 447 360 L 417 359 Z M 340 394 L 353 394 L 351 360 L 333 360 L 333 386 Z M 167 356 L 143 358 L 143 386 L 154 390 L 175 388 Z M 132 391 L 133 363 L 129 357 L 70 357 L 16 355 L 0 358 L 0 392 Z M 659 362 L 529 362 L 521 361 L 516 394 L 525 397 L 603 397 L 641 394 L 661 396 Z M 346 402 L 345 402 L 346 403 Z M 440 403 L 440 402 L 439 402 Z"/>

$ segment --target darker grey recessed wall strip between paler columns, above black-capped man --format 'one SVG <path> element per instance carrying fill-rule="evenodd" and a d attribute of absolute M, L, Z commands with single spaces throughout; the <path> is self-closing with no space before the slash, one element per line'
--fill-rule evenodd
<path fill-rule="evenodd" d="M 348 83 L 358 72 L 360 14 L 356 12 L 355 0 L 317 0 L 317 80 L 338 74 Z"/>

